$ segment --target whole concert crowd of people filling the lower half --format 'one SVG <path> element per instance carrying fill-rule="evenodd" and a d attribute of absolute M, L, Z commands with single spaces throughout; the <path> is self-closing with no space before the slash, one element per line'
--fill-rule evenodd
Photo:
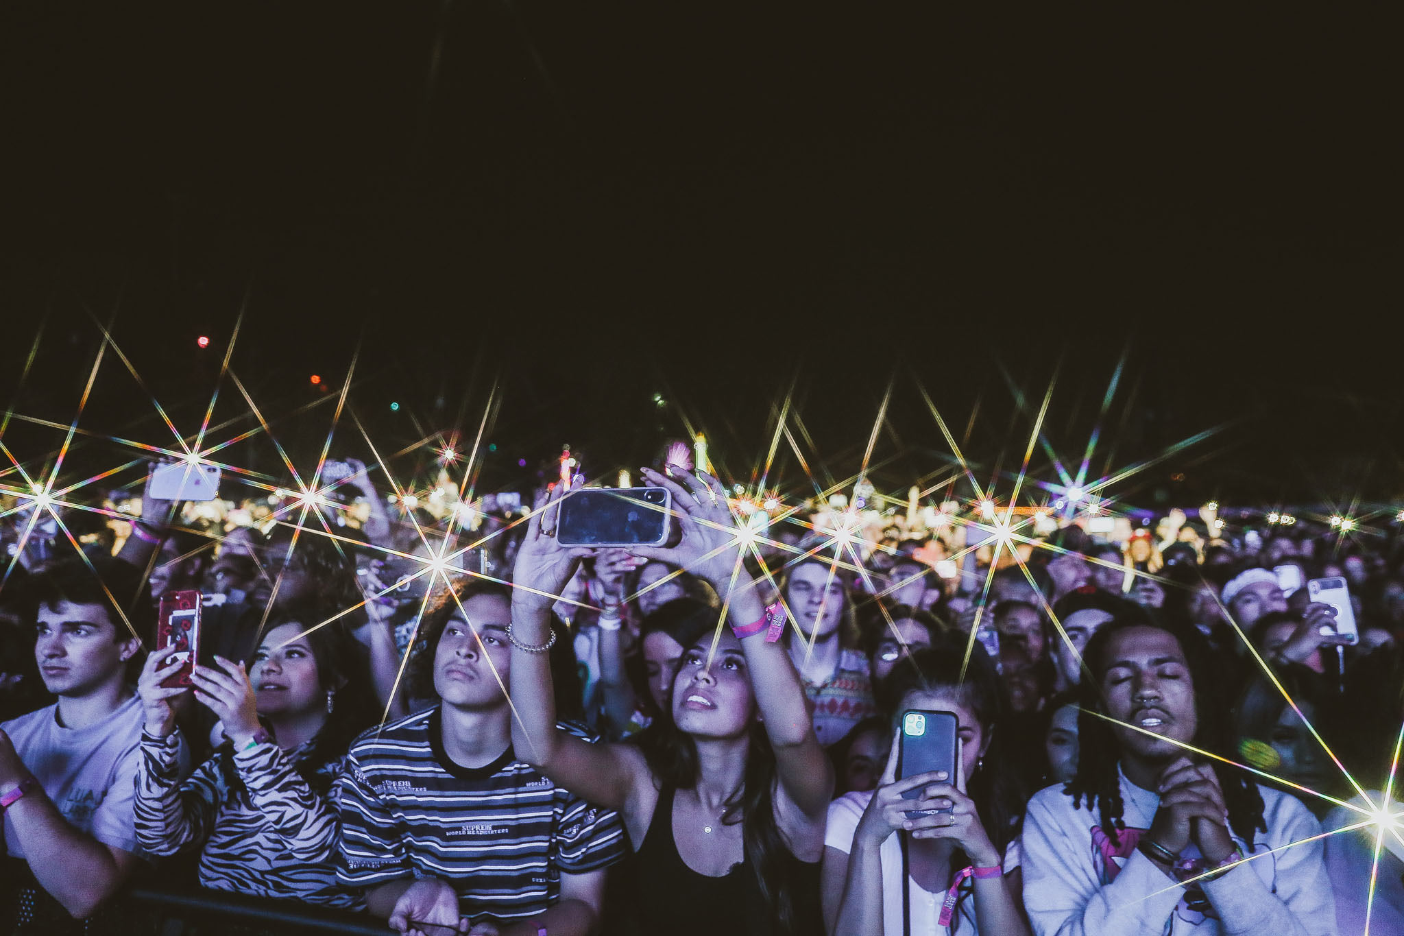
<path fill-rule="evenodd" d="M 159 881 L 421 936 L 1404 933 L 1393 536 L 757 535 L 656 467 L 661 546 L 563 544 L 571 481 L 468 532 L 364 470 L 336 535 L 147 491 L 79 554 L 14 514 L 0 926 L 133 932 Z M 901 769 L 908 711 L 949 770 Z"/>

